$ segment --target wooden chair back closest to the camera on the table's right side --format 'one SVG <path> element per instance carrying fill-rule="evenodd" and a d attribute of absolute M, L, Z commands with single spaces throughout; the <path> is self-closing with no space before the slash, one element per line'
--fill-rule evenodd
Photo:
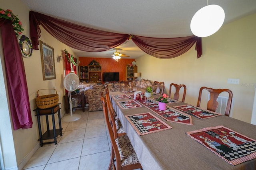
<path fill-rule="evenodd" d="M 229 116 L 230 113 L 230 108 L 231 108 L 231 104 L 232 104 L 232 91 L 229 89 L 213 89 L 213 88 L 208 88 L 208 87 L 201 87 L 199 90 L 199 96 L 198 96 L 198 100 L 197 100 L 197 105 L 196 106 L 200 106 L 201 103 L 201 97 L 202 97 L 202 90 L 208 90 L 208 92 L 210 93 L 210 100 L 207 102 L 207 109 L 210 111 L 216 111 L 218 108 L 218 102 L 217 102 L 217 98 L 219 96 L 220 93 L 222 92 L 227 92 L 228 93 L 228 102 L 227 102 L 227 106 L 226 106 L 226 111 L 225 111 L 225 115 Z"/>

